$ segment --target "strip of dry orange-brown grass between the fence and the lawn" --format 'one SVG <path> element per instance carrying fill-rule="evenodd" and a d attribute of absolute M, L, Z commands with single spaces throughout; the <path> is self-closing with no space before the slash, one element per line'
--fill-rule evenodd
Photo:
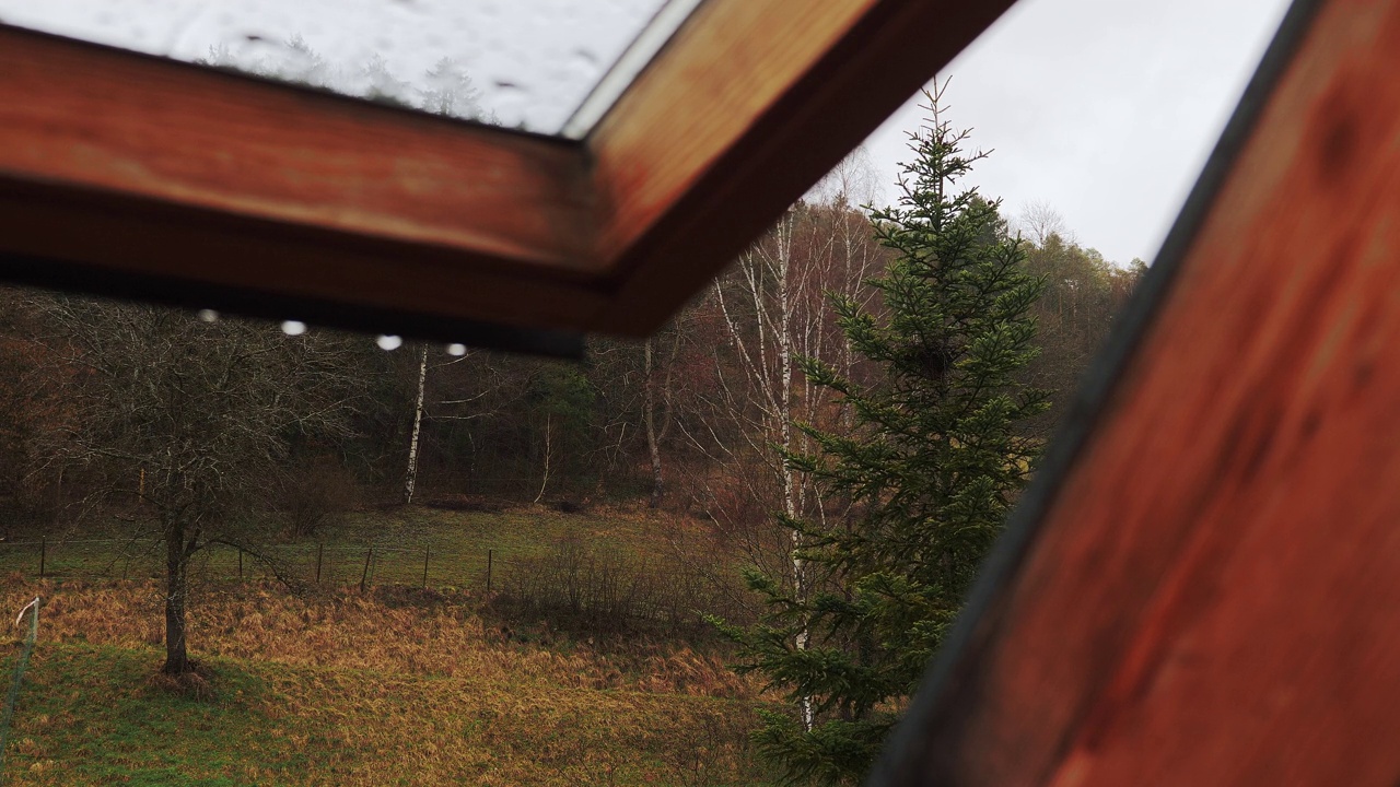
<path fill-rule="evenodd" d="M 668 644 L 605 651 L 549 632 L 518 634 L 514 626 L 487 625 L 462 595 L 377 588 L 364 595 L 337 590 L 298 597 L 269 584 L 202 590 L 190 613 L 196 657 L 574 689 L 756 696 L 756 685 L 717 654 Z M 43 640 L 127 648 L 164 641 L 157 583 L 56 585 L 11 577 L 0 584 L 0 611 L 18 609 L 35 595 L 45 598 Z"/>

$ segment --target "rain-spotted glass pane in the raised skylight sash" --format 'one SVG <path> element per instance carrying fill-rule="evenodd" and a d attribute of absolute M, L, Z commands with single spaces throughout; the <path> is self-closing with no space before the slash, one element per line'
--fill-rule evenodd
<path fill-rule="evenodd" d="M 664 4 L 0 0 L 0 22 L 553 134 Z"/>

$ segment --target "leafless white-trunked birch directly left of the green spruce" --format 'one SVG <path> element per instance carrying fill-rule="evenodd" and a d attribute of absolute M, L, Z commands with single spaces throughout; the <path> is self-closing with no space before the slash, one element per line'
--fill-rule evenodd
<path fill-rule="evenodd" d="M 703 441 L 713 458 L 729 468 L 731 483 L 748 487 L 767 511 L 777 510 L 788 520 L 825 515 L 806 476 L 785 461 L 787 455 L 811 450 L 794 424 L 819 423 L 829 410 L 826 392 L 799 374 L 797 358 L 822 358 L 850 371 L 854 361 L 829 297 L 868 297 L 861 281 L 881 259 L 867 217 L 848 206 L 844 190 L 833 193 L 829 204 L 799 203 L 788 210 L 714 287 L 729 346 L 724 358 L 717 354 L 720 389 L 714 422 Z M 766 473 L 752 472 L 753 462 Z M 776 490 L 776 499 L 767 490 Z M 773 566 L 767 528 L 741 532 L 750 539 L 750 559 Z M 797 598 L 808 591 L 801 546 L 792 531 L 781 550 L 787 570 L 770 570 L 770 576 L 788 577 Z M 805 632 L 798 633 L 795 644 L 799 650 L 808 646 Z M 804 717 L 811 723 L 806 703 Z"/>

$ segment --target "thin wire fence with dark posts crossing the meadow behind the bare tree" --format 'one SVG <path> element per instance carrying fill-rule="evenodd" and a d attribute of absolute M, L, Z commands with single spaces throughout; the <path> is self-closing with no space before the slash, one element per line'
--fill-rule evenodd
<path fill-rule="evenodd" d="M 199 550 L 192 583 L 266 581 L 325 588 L 421 587 L 483 592 L 536 618 L 594 630 L 704 627 L 707 616 L 746 620 L 742 581 L 696 556 L 638 557 L 582 542 L 514 553 L 344 543 L 295 543 L 256 552 L 224 543 Z M 0 574 L 41 578 L 146 580 L 165 576 L 158 539 L 0 542 Z"/>

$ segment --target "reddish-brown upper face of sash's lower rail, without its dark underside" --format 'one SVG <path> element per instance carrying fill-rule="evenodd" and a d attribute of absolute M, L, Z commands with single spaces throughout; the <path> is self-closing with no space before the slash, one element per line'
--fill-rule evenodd
<path fill-rule="evenodd" d="M 577 151 L 0 27 L 0 174 L 587 269 Z"/>

